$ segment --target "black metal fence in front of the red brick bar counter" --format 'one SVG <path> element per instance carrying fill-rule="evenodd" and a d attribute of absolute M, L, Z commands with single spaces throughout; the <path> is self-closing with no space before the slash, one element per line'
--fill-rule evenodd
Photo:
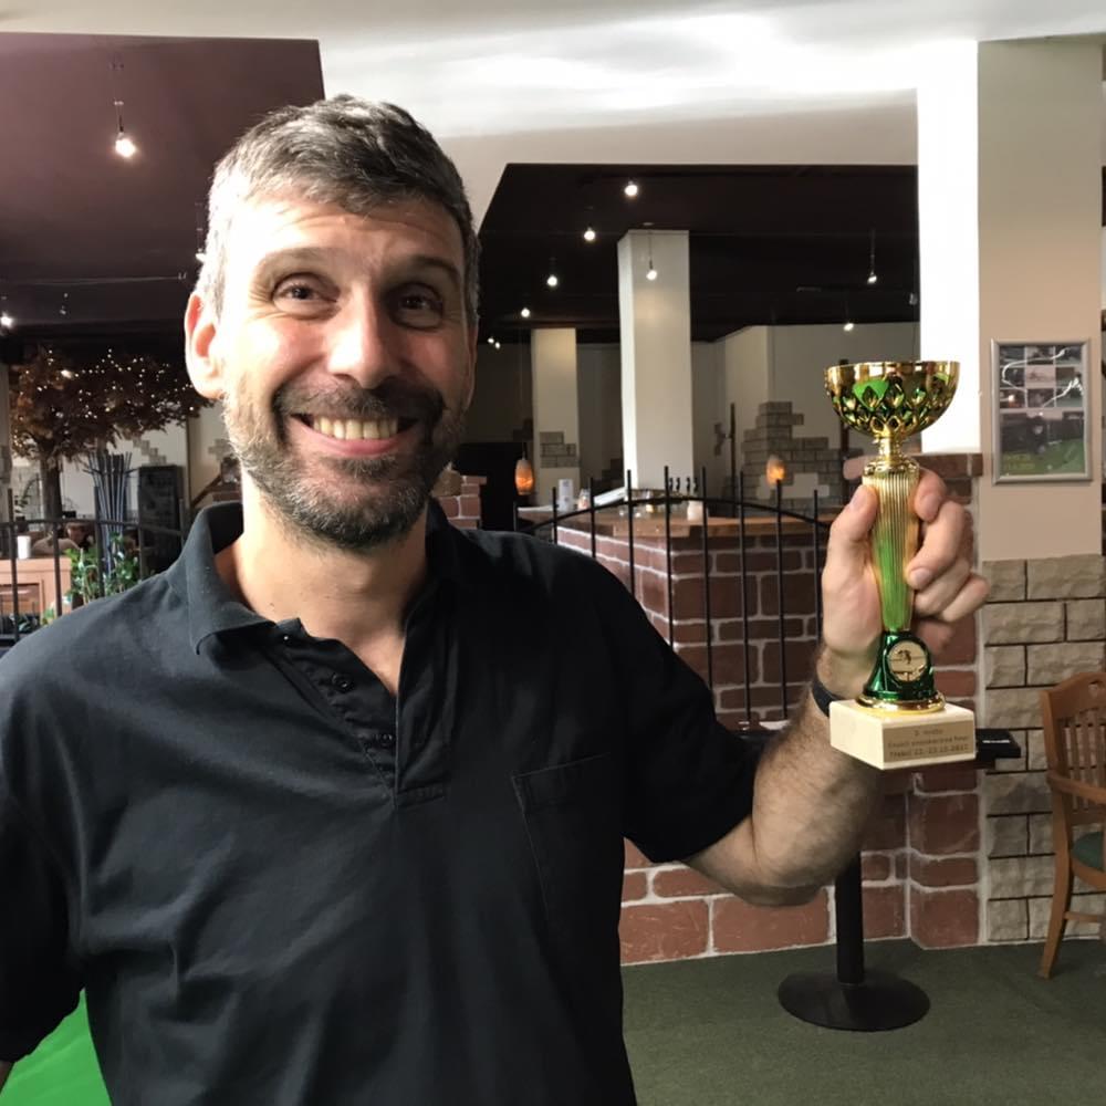
<path fill-rule="evenodd" d="M 815 489 L 808 513 L 785 508 L 782 481 L 771 501 L 750 499 L 732 461 L 729 494 L 710 495 L 707 487 L 703 468 L 697 493 L 677 492 L 666 468 L 665 491 L 635 492 L 627 471 L 625 489 L 613 501 L 608 493 L 599 504 L 589 481 L 586 505 L 572 511 L 559 509 L 555 494 L 542 518 L 522 517 L 515 504 L 514 528 L 606 562 L 657 629 L 667 630 L 669 645 L 697 668 L 714 692 L 720 717 L 754 728 L 785 718 L 810 676 L 808 659 L 796 654 L 813 654 L 821 636 L 821 571 L 839 504 L 820 501 Z M 623 551 L 625 560 L 616 555 Z M 641 586 L 645 572 L 657 575 L 658 554 L 659 597 L 656 587 Z M 689 584 L 700 591 L 697 602 L 689 602 Z M 795 649 L 796 641 L 810 648 Z M 732 646 L 740 648 L 734 653 Z M 720 653 L 728 649 L 727 670 L 720 672 Z"/>

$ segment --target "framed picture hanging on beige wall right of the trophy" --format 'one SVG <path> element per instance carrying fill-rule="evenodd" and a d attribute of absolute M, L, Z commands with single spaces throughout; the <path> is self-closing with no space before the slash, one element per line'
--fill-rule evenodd
<path fill-rule="evenodd" d="M 1089 480 L 1089 342 L 992 342 L 994 480 Z"/>

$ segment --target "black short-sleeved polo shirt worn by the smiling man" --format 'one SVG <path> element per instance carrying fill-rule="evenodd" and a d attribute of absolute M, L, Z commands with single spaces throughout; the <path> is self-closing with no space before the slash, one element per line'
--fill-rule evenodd
<path fill-rule="evenodd" d="M 213 554 L 0 661 L 0 1058 L 87 993 L 116 1106 L 628 1106 L 623 836 L 753 762 L 605 568 L 430 510 L 393 698 Z"/>

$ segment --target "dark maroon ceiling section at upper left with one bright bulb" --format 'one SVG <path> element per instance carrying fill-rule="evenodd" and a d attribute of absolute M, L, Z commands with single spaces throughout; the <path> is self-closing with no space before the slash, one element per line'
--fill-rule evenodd
<path fill-rule="evenodd" d="M 24 335 L 179 334 L 215 161 L 322 94 L 317 44 L 296 41 L 0 34 L 0 74 L 19 90 L 0 95 L 0 295 Z"/>

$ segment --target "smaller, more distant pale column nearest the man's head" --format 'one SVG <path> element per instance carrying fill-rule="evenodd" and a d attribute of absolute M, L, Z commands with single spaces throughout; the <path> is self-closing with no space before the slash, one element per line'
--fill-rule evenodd
<path fill-rule="evenodd" d="M 535 330 L 530 335 L 533 374 L 534 502 L 552 501 L 559 480 L 580 489 L 580 406 L 576 388 L 576 332 Z"/>

